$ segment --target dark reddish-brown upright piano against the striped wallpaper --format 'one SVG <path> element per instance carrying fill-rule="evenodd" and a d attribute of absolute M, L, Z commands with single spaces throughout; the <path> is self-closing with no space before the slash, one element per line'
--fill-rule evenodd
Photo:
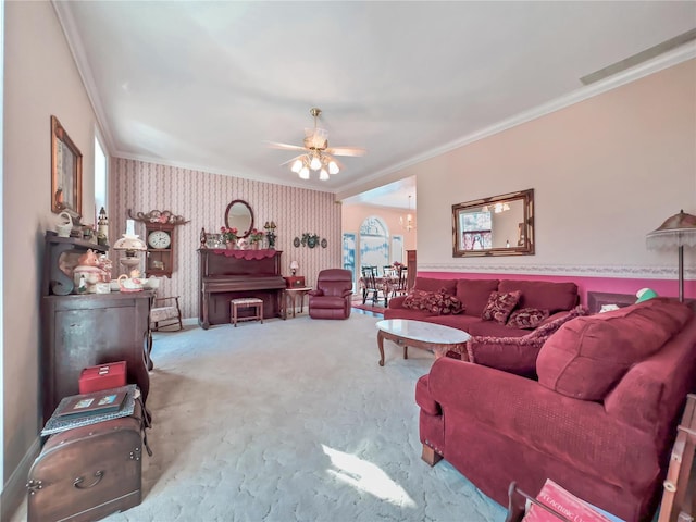
<path fill-rule="evenodd" d="M 263 300 L 263 318 L 281 314 L 285 279 L 279 250 L 198 249 L 198 324 L 229 323 L 229 301 L 241 297 Z M 240 311 L 240 314 L 244 314 Z"/>

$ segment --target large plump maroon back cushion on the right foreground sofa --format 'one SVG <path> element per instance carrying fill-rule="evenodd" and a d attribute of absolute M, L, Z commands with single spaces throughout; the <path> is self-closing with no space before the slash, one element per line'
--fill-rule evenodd
<path fill-rule="evenodd" d="M 602 400 L 631 365 L 658 351 L 691 318 L 656 298 L 564 324 L 542 348 L 539 384 L 568 397 Z"/>

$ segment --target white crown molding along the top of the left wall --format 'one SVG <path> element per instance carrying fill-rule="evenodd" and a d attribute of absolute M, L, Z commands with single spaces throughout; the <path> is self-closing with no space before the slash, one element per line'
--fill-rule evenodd
<path fill-rule="evenodd" d="M 85 86 L 85 90 L 87 91 L 87 98 L 89 98 L 91 108 L 95 111 L 95 115 L 97 116 L 97 123 L 101 130 L 101 136 L 105 141 L 104 145 L 108 149 L 107 152 L 112 156 L 113 151 L 116 150 L 115 141 L 113 139 L 113 135 L 111 134 L 111 128 L 108 125 L 109 120 L 107 119 L 107 113 L 103 110 L 103 103 L 101 102 L 99 90 L 97 89 L 97 85 L 95 84 L 95 76 L 92 74 L 91 67 L 89 66 L 89 61 L 87 60 L 85 45 L 79 37 L 79 30 L 77 30 L 77 22 L 75 22 L 75 17 L 70 10 L 70 2 L 51 0 L 51 4 L 53 5 L 53 10 L 55 11 L 55 15 L 58 16 L 58 22 L 63 28 L 63 35 L 65 36 L 65 40 L 67 41 L 70 52 L 73 55 L 73 61 L 75 62 L 75 65 L 77 67 L 77 73 L 79 74 L 79 77 L 83 80 L 83 85 Z"/>

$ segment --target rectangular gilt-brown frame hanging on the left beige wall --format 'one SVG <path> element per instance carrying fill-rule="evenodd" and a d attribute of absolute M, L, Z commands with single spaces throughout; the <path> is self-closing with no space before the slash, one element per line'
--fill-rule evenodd
<path fill-rule="evenodd" d="M 51 116 L 51 211 L 83 212 L 83 154 L 67 133 Z"/>

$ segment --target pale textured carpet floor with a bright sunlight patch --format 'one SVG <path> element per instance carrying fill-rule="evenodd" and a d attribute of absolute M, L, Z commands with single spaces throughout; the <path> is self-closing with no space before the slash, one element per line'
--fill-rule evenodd
<path fill-rule="evenodd" d="M 378 319 L 156 334 L 142 502 L 104 520 L 502 522 L 421 460 L 413 395 L 433 355 L 387 343 L 381 368 Z"/>

